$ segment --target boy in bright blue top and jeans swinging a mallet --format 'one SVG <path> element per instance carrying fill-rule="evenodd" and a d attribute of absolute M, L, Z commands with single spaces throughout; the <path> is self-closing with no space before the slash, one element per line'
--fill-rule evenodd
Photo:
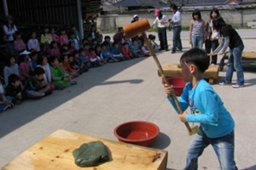
<path fill-rule="evenodd" d="M 220 169 L 233 170 L 237 169 L 234 161 L 235 122 L 218 94 L 202 77 L 202 73 L 208 68 L 209 60 L 207 53 L 199 48 L 190 49 L 180 58 L 183 79 L 187 84 L 178 102 L 182 111 L 190 107 L 191 113 L 183 112 L 179 119 L 181 122 L 200 123 L 199 131 L 189 145 L 187 165 L 184 169 L 197 169 L 198 157 L 211 144 L 218 156 Z M 172 86 L 165 84 L 165 91 L 168 94 L 167 99 L 177 111 L 171 97 L 174 93 Z"/>

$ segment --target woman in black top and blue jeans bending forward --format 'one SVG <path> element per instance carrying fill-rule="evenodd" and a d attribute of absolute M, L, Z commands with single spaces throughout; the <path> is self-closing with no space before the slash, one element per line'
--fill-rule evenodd
<path fill-rule="evenodd" d="M 228 68 L 226 77 L 220 85 L 231 85 L 233 72 L 236 70 L 236 84 L 233 88 L 241 88 L 244 85 L 243 69 L 241 65 L 241 54 L 244 49 L 243 42 L 237 31 L 230 25 L 227 25 L 222 17 L 214 18 L 212 20 L 213 29 L 220 32 L 220 42 L 218 48 L 213 51 L 213 54 L 224 54 L 226 49 L 230 47 L 230 56 L 228 60 Z"/>

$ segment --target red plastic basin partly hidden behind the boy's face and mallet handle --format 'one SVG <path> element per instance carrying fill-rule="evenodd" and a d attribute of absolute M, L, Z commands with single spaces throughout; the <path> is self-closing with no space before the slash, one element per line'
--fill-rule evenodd
<path fill-rule="evenodd" d="M 172 84 L 174 92 L 177 96 L 183 94 L 183 88 L 187 82 L 184 82 L 183 77 L 169 77 L 167 80 Z"/>

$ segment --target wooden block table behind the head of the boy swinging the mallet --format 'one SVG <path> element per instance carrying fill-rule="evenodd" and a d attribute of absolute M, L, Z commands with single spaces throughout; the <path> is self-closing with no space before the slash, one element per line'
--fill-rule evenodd
<path fill-rule="evenodd" d="M 177 64 L 166 64 L 162 66 L 164 75 L 166 77 L 181 77 L 181 68 Z M 160 75 L 160 71 L 158 71 Z M 218 65 L 209 65 L 207 71 L 203 73 L 203 77 L 209 80 L 210 84 L 213 84 L 214 79 L 218 79 Z"/>

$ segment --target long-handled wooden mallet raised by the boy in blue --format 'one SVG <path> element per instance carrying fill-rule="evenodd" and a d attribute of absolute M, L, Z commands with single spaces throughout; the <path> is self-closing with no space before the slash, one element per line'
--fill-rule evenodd
<path fill-rule="evenodd" d="M 147 37 L 147 35 L 145 33 L 145 31 L 149 30 L 150 28 L 151 28 L 151 26 L 149 25 L 147 19 L 138 20 L 136 22 L 133 22 L 131 24 L 123 26 L 126 38 L 135 37 L 135 36 L 137 36 L 138 34 L 141 34 L 141 33 L 143 34 L 144 42 L 146 42 L 150 53 L 153 55 L 155 64 L 157 65 L 157 67 L 158 67 L 158 69 L 160 71 L 161 77 L 163 77 L 163 79 L 166 82 L 166 84 L 171 86 L 170 82 L 167 80 L 167 78 L 166 78 L 166 76 L 164 74 L 162 66 L 160 65 L 160 61 L 157 58 L 156 54 L 154 53 L 154 49 L 151 47 L 150 42 L 148 41 L 148 37 Z M 182 111 L 182 109 L 181 109 L 181 107 L 180 107 L 180 105 L 178 103 L 176 94 L 172 93 L 172 98 L 174 99 L 175 104 L 177 105 L 178 113 L 179 114 L 183 114 L 183 111 Z M 184 124 L 185 124 L 185 126 L 187 127 L 187 129 L 189 131 L 189 135 L 193 135 L 193 134 L 197 133 L 198 126 L 191 128 L 191 127 L 189 127 L 189 123 L 188 122 L 184 122 Z"/>

